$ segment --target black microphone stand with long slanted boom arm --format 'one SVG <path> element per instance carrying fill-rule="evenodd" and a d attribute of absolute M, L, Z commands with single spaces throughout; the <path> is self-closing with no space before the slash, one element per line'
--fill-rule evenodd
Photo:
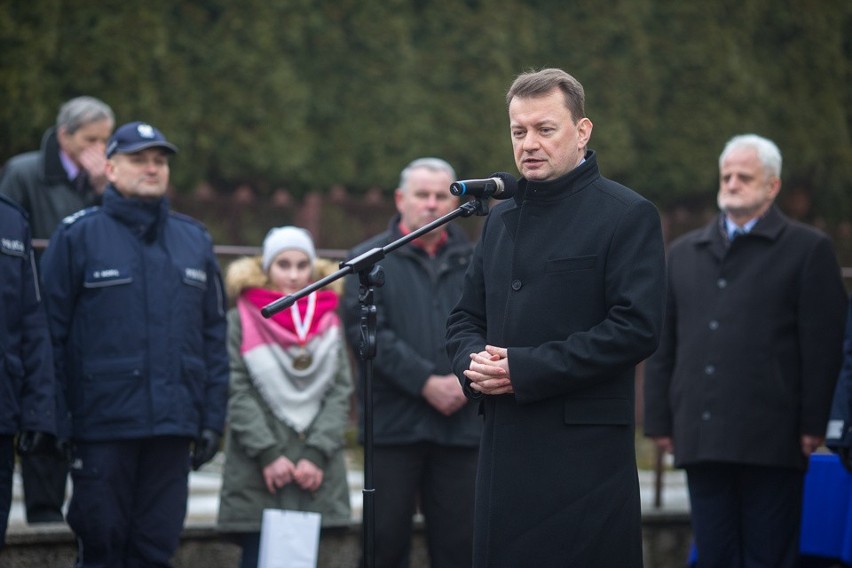
<path fill-rule="evenodd" d="M 385 282 L 384 271 L 376 263 L 389 253 L 438 227 L 445 225 L 457 217 L 471 215 L 487 215 L 487 197 L 475 197 L 457 207 L 428 225 L 412 231 L 396 241 L 383 247 L 376 247 L 367 252 L 340 263 L 340 269 L 321 280 L 302 288 L 295 294 L 289 294 L 264 306 L 260 313 L 269 318 L 274 314 L 289 308 L 300 298 L 323 288 L 335 280 L 348 274 L 357 273 L 360 282 L 358 301 L 361 305 L 361 340 L 358 354 L 361 363 L 361 376 L 364 377 L 364 505 L 363 505 L 363 546 L 364 566 L 375 566 L 375 488 L 373 487 L 373 359 L 376 356 L 376 305 L 374 301 L 375 288 Z"/>

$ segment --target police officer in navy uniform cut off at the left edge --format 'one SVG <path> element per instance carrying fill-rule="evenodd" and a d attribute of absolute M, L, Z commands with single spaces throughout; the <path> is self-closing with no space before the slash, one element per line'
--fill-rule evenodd
<path fill-rule="evenodd" d="M 12 503 L 14 443 L 22 455 L 52 445 L 53 357 L 26 214 L 0 195 L 0 549 Z"/>

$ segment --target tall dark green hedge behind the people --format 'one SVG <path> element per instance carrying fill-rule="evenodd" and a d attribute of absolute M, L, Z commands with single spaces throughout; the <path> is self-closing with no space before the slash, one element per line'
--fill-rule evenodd
<path fill-rule="evenodd" d="M 660 206 L 712 205 L 725 140 L 758 132 L 848 219 L 850 29 L 848 0 L 0 0 L 0 161 L 91 94 L 181 146 L 181 191 L 388 190 L 421 155 L 480 177 L 515 171 L 514 76 L 558 66 L 604 173 Z"/>

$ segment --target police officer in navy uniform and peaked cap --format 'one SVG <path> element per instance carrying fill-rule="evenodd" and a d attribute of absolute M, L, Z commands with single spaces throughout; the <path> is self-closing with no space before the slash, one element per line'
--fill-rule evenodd
<path fill-rule="evenodd" d="M 169 566 L 189 468 L 225 424 L 225 297 L 210 235 L 169 210 L 176 151 L 149 124 L 118 128 L 103 205 L 66 218 L 41 260 L 78 568 Z"/>

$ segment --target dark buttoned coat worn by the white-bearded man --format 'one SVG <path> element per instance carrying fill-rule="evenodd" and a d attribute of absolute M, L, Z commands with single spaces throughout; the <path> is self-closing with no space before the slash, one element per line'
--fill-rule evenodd
<path fill-rule="evenodd" d="M 774 206 L 730 247 L 719 220 L 675 241 L 660 348 L 645 373 L 645 434 L 675 464 L 805 469 L 825 434 L 846 294 L 829 238 Z"/>

